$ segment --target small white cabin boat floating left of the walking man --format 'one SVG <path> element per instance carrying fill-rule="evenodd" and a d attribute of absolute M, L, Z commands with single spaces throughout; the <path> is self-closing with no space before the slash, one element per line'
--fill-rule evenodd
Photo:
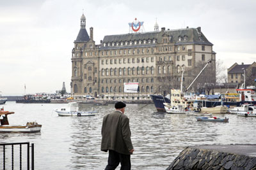
<path fill-rule="evenodd" d="M 95 116 L 95 113 L 98 113 L 98 111 L 79 111 L 78 104 L 79 103 L 77 102 L 70 102 L 67 107 L 56 109 L 54 111 L 62 117 L 92 117 Z"/>

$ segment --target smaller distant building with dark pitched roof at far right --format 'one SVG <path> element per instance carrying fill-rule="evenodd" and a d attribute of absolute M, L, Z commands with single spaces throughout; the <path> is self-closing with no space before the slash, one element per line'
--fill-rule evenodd
<path fill-rule="evenodd" d="M 235 63 L 227 71 L 228 83 L 239 83 L 241 85 L 244 83 L 244 71 L 246 75 L 256 73 L 256 62 L 252 64 L 244 64 L 242 62 L 240 65 Z"/>

